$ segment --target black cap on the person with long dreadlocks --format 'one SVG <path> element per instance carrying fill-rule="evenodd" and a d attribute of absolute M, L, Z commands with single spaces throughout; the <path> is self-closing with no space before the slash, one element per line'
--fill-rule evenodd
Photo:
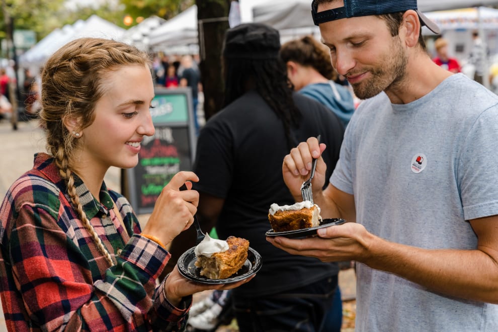
<path fill-rule="evenodd" d="M 279 50 L 278 30 L 261 23 L 240 24 L 225 33 L 225 58 L 276 59 Z"/>

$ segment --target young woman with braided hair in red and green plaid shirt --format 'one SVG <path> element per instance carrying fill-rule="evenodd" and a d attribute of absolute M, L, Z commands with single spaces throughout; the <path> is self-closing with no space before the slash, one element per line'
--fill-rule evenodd
<path fill-rule="evenodd" d="M 192 172 L 164 187 L 144 229 L 128 201 L 104 183 L 131 168 L 154 134 L 150 63 L 136 48 L 84 38 L 45 64 L 40 112 L 47 153 L 0 208 L 0 288 L 9 330 L 181 329 L 191 295 L 208 286 L 175 267 L 165 249 L 188 228 L 199 195 Z M 180 191 L 183 185 L 188 190 Z"/>

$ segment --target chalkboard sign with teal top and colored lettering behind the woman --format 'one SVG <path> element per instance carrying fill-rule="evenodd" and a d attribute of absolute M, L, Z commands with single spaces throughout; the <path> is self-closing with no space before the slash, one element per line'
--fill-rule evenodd
<path fill-rule="evenodd" d="M 155 133 L 143 137 L 138 164 L 121 177 L 122 193 L 137 214 L 151 213 L 162 188 L 179 171 L 191 171 L 195 156 L 190 88 L 156 89 L 152 107 Z"/>

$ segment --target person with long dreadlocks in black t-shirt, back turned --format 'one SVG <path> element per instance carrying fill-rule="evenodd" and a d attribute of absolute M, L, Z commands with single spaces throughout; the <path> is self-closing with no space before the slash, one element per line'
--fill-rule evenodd
<path fill-rule="evenodd" d="M 344 133 L 333 112 L 293 92 L 279 50 L 278 31 L 266 25 L 226 32 L 225 106 L 201 129 L 194 164 L 204 230 L 215 226 L 221 239 L 244 237 L 263 258 L 257 276 L 231 291 L 242 332 L 318 331 L 339 272 L 337 264 L 288 255 L 265 240 L 270 205 L 293 203 L 281 175 L 288 148 L 321 134 L 331 173 Z M 184 233 L 172 252 L 193 245 L 193 235 Z"/>

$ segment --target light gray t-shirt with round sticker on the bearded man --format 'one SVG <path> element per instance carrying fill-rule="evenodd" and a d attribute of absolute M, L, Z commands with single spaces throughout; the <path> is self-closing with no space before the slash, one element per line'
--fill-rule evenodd
<path fill-rule="evenodd" d="M 423 98 L 364 101 L 330 182 L 389 241 L 475 249 L 466 220 L 498 214 L 498 96 L 463 74 Z M 356 331 L 498 331 L 498 305 L 438 294 L 358 264 Z"/>

